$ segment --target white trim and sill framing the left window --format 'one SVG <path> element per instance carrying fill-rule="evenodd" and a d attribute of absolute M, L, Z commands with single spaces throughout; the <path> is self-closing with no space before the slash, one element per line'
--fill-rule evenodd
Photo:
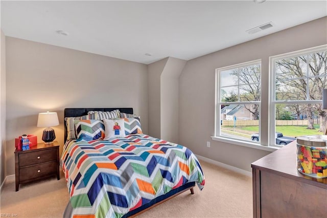
<path fill-rule="evenodd" d="M 246 67 L 250 66 L 252 64 L 258 64 L 262 66 L 262 59 L 257 59 L 257 60 L 252 60 L 252 61 L 247 61 L 243 63 L 237 63 L 233 64 L 231 66 L 223 67 L 223 68 L 217 68 L 216 69 L 216 77 L 215 77 L 215 136 L 212 136 L 211 138 L 215 141 L 221 141 L 225 143 L 230 143 L 230 144 L 236 144 L 236 145 L 241 145 L 245 147 L 250 147 L 250 148 L 255 148 L 255 149 L 262 149 L 262 150 L 267 150 L 267 151 L 274 151 L 278 149 L 279 147 L 271 147 L 271 146 L 266 146 L 266 145 L 261 145 L 260 141 L 258 143 L 251 142 L 251 141 L 243 141 L 243 140 L 237 140 L 237 139 L 232 139 L 229 137 L 224 137 L 221 136 L 221 129 L 218 127 L 218 123 L 220 126 L 220 120 L 221 120 L 221 113 L 218 113 L 218 104 L 220 103 L 220 89 L 218 89 L 218 84 L 220 82 L 218 72 L 219 71 L 224 71 L 224 70 L 229 70 L 229 69 L 235 69 L 239 67 Z M 262 72 L 262 71 L 261 71 Z M 260 73 L 261 73 L 260 72 Z M 260 81 L 260 85 L 262 85 L 262 82 Z M 219 85 L 220 88 L 220 85 Z M 262 92 L 260 92 L 262 97 Z M 219 100 L 218 100 L 219 98 Z M 252 104 L 259 104 L 259 134 L 261 134 L 261 100 L 260 101 L 251 101 L 251 102 L 245 102 L 245 103 L 252 103 Z M 231 104 L 242 104 L 242 102 L 232 102 Z M 219 104 L 220 105 L 220 104 Z M 220 112 L 220 109 L 219 109 Z M 219 133 L 218 133 L 219 130 Z M 260 139 L 261 140 L 261 139 Z"/>

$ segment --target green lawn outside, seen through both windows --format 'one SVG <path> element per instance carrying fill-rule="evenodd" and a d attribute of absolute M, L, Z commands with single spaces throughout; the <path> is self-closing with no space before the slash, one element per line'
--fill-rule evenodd
<path fill-rule="evenodd" d="M 284 136 L 298 137 L 307 135 L 322 135 L 318 132 L 319 125 L 314 125 L 316 129 L 307 129 L 308 126 L 276 126 L 276 132 L 283 133 Z M 259 133 L 259 126 L 244 126 L 242 130 L 247 130 L 253 133 Z"/>

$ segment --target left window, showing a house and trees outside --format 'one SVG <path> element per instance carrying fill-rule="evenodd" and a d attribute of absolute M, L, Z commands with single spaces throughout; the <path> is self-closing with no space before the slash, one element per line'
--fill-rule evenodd
<path fill-rule="evenodd" d="M 216 69 L 216 90 L 216 136 L 260 140 L 261 60 Z"/>

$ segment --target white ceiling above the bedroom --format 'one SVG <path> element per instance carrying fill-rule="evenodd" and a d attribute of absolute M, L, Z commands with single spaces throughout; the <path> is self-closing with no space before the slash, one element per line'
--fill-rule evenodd
<path fill-rule="evenodd" d="M 189 60 L 326 15 L 325 0 L 1 1 L 6 36 L 147 64 Z M 272 28 L 245 32 L 270 21 Z"/>

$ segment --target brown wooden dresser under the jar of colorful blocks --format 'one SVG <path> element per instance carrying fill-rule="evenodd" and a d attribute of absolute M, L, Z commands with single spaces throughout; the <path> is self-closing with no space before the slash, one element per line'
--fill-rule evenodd
<path fill-rule="evenodd" d="M 297 171 L 296 141 L 251 167 L 253 217 L 327 217 L 327 178 Z"/>

